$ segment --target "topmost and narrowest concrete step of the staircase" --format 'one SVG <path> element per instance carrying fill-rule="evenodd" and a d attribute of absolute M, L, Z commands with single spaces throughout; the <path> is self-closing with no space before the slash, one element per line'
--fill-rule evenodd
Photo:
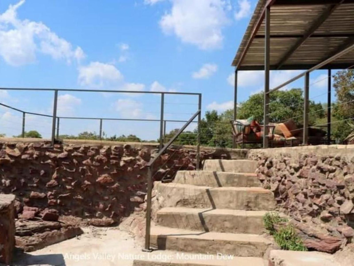
<path fill-rule="evenodd" d="M 257 162 L 251 160 L 205 160 L 203 170 L 218 172 L 255 173 Z"/>

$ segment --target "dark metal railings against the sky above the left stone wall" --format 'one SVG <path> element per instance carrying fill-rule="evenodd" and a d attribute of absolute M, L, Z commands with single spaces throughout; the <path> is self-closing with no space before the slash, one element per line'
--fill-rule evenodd
<path fill-rule="evenodd" d="M 159 148 L 162 149 L 164 144 L 164 136 L 166 135 L 166 123 L 168 122 L 188 122 L 184 120 L 166 120 L 164 118 L 164 106 L 165 106 L 165 95 L 195 95 L 198 96 L 198 110 L 201 109 L 201 94 L 200 93 L 183 93 L 183 92 L 144 92 L 144 91 L 125 91 L 125 90 L 87 90 L 87 89 L 43 89 L 43 88 L 0 88 L 0 90 L 22 90 L 22 91 L 52 91 L 54 92 L 54 100 L 53 100 L 53 115 L 46 115 L 42 113 L 28 112 L 24 110 L 20 110 L 18 108 L 2 104 L 1 106 L 8 107 L 12 110 L 22 112 L 22 137 L 25 136 L 25 122 L 26 122 L 26 114 L 29 115 L 38 115 L 44 117 L 52 118 L 51 123 L 51 143 L 52 145 L 55 143 L 56 139 L 59 138 L 59 127 L 60 122 L 63 119 L 79 119 L 79 120 L 99 120 L 99 139 L 102 140 L 102 127 L 103 121 L 146 121 L 146 122 L 160 122 L 160 130 L 159 130 Z M 135 118 L 103 118 L 103 117 L 68 117 L 68 116 L 58 116 L 58 92 L 98 92 L 98 93 L 124 93 L 124 94 L 160 94 L 160 119 L 135 119 Z M 183 103 L 182 103 L 183 104 Z M 196 123 L 193 121 L 193 123 Z"/>

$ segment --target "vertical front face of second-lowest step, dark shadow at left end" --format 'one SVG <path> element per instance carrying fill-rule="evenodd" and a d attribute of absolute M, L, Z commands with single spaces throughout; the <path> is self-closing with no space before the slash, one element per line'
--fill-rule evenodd
<path fill-rule="evenodd" d="M 268 245 L 262 242 L 193 239 L 173 235 L 168 237 L 151 235 L 151 244 L 160 250 L 167 249 L 197 254 L 222 253 L 240 257 L 262 257 L 268 248 Z"/>

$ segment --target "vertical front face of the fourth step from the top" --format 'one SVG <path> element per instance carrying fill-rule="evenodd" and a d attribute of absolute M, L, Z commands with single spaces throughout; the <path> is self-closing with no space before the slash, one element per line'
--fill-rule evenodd
<path fill-rule="evenodd" d="M 195 231 L 245 234 L 261 234 L 264 232 L 262 216 L 158 212 L 157 223 L 160 226 Z"/>

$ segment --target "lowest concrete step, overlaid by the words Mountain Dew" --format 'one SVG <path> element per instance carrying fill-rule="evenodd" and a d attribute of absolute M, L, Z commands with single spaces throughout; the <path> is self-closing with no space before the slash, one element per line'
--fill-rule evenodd
<path fill-rule="evenodd" d="M 260 257 L 223 257 L 221 254 L 177 253 L 171 250 L 156 250 L 141 254 L 133 266 L 267 266 Z"/>

